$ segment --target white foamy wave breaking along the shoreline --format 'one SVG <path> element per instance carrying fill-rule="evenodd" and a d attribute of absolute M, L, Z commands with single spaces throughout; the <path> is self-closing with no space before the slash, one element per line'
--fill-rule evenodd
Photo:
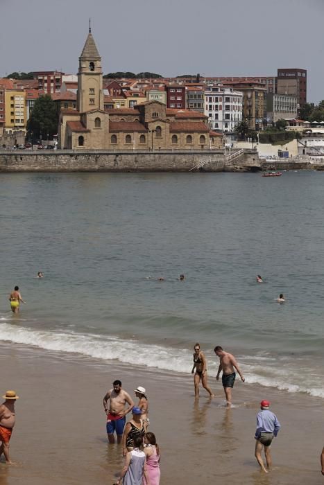
<path fill-rule="evenodd" d="M 192 369 L 191 352 L 187 349 L 167 348 L 155 344 L 144 344 L 139 340 L 123 340 L 119 337 L 109 337 L 87 333 L 58 332 L 51 330 L 34 330 L 12 326 L 7 323 L 0 324 L 0 340 L 15 344 L 36 346 L 48 351 L 78 353 L 89 358 L 99 360 L 117 360 L 123 364 L 139 365 L 148 368 L 160 369 L 189 374 Z M 256 366 L 255 360 L 262 362 Z M 315 369 L 303 367 L 308 376 L 312 376 L 309 387 L 300 385 L 300 376 L 294 370 L 296 361 L 285 362 L 282 372 L 282 360 L 287 357 L 273 358 L 273 355 L 241 355 L 239 362 L 244 370 L 248 384 L 259 384 L 264 387 L 276 387 L 291 393 L 306 393 L 310 396 L 324 398 L 323 378 Z M 278 362 L 278 367 L 273 362 Z M 208 361 L 210 377 L 216 377 L 218 362 Z M 266 375 L 267 373 L 267 375 Z M 296 384 L 299 382 L 299 384 Z"/>

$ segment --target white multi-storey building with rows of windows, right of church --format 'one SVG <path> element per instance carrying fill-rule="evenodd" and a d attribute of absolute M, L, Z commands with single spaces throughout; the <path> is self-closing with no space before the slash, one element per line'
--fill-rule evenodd
<path fill-rule="evenodd" d="M 242 121 L 243 93 L 232 87 L 221 85 L 205 89 L 205 115 L 211 130 L 233 132 L 235 125 Z"/>

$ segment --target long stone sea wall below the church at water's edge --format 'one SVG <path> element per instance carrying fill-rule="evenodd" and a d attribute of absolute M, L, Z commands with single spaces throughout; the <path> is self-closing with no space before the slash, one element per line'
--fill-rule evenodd
<path fill-rule="evenodd" d="M 253 171 L 261 164 L 256 150 L 226 161 L 222 150 L 101 152 L 77 150 L 3 150 L 0 172 L 187 172 L 203 161 L 206 172 Z"/>

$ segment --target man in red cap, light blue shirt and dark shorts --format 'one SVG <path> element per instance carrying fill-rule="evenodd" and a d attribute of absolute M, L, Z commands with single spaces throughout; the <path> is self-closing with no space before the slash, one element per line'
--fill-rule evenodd
<path fill-rule="evenodd" d="M 270 446 L 273 436 L 277 436 L 278 431 L 280 430 L 280 423 L 277 416 L 269 411 L 270 403 L 268 400 L 262 400 L 260 407 L 261 411 L 257 413 L 257 430 L 255 431 L 255 439 L 257 440 L 255 443 L 255 458 L 264 473 L 268 473 L 272 466 Z M 263 447 L 268 470 L 266 470 L 261 456 Z"/>

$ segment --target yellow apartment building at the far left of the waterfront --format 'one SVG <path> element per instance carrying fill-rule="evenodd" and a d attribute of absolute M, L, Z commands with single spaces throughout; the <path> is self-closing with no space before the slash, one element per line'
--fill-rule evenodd
<path fill-rule="evenodd" d="M 5 130 L 12 133 L 26 131 L 26 91 L 24 89 L 6 89 L 5 91 Z"/>

